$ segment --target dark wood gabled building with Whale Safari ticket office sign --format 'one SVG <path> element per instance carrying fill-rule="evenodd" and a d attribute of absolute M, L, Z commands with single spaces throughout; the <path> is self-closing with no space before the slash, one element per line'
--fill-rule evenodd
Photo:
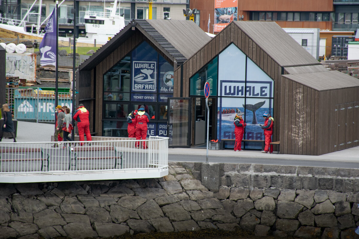
<path fill-rule="evenodd" d="M 192 21 L 132 20 L 79 67 L 77 104 L 97 136 L 127 137 L 126 118 L 144 105 L 148 135 L 167 135 L 174 68 L 211 38 Z"/>

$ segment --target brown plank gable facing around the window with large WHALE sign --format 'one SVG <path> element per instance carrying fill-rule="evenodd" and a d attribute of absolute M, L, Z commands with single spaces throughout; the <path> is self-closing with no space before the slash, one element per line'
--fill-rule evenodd
<path fill-rule="evenodd" d="M 230 43 L 236 44 L 253 62 L 255 62 L 264 72 L 274 80 L 274 129 L 273 140 L 279 140 L 280 132 L 280 83 L 281 66 L 275 62 L 266 52 L 264 52 L 256 43 L 234 23 L 231 23 L 218 33 L 210 42 L 203 46 L 196 54 L 183 63 L 183 84 L 181 85 L 181 67 L 174 72 L 174 97 L 189 97 L 190 95 L 190 77 L 204 67 L 211 59 L 223 51 Z M 181 88 L 183 95 L 181 95 Z M 192 129 L 192 134 L 194 129 Z M 192 137 L 193 138 L 193 137 Z M 193 142 L 193 141 L 192 141 Z"/>

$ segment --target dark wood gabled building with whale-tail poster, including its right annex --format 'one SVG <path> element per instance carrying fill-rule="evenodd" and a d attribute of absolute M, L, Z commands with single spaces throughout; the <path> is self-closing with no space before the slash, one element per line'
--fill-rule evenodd
<path fill-rule="evenodd" d="M 275 22 L 234 21 L 174 71 L 174 97 L 192 101 L 191 145 L 201 137 L 206 81 L 211 139 L 234 139 L 239 109 L 244 139 L 263 140 L 262 115 L 273 116 L 280 153 L 320 155 L 359 145 L 359 80 L 328 71 Z"/>

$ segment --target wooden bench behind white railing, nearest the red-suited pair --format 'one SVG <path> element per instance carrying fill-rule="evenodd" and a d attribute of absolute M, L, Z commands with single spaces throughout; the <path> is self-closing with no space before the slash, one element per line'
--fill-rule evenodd
<path fill-rule="evenodd" d="M 103 147 L 74 147 L 71 148 L 69 145 L 67 146 L 67 149 L 69 150 L 69 170 L 71 170 L 71 166 L 75 166 L 75 169 L 77 168 L 77 161 L 78 160 L 87 160 L 87 159 L 114 159 L 115 163 L 113 168 L 116 168 L 117 164 L 120 164 L 120 168 L 122 169 L 122 152 L 120 152 L 120 155 L 118 155 L 118 151 L 116 147 L 109 147 L 109 146 L 103 146 Z M 106 152 L 106 151 L 115 151 L 114 156 L 86 156 L 86 157 L 78 157 L 77 154 L 79 152 Z M 74 164 L 71 164 L 72 160 L 74 160 Z M 117 163 L 118 160 L 120 160 L 120 163 Z"/>

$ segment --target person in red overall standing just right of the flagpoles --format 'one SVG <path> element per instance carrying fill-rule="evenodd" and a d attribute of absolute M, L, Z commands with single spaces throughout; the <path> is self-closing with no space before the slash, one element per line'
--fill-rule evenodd
<path fill-rule="evenodd" d="M 76 120 L 77 123 L 77 128 L 79 130 L 79 137 L 80 137 L 80 141 L 84 141 L 84 133 L 86 134 L 86 140 L 87 141 L 91 141 L 92 137 L 90 134 L 90 121 L 89 121 L 89 111 L 84 107 L 83 104 L 79 104 L 79 106 L 77 107 L 77 109 L 75 110 L 74 113 L 74 120 Z M 80 144 L 80 146 L 82 146 L 83 143 Z"/>

